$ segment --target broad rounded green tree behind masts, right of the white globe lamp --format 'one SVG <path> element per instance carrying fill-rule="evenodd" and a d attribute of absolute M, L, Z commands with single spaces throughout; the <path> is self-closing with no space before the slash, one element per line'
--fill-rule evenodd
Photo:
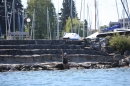
<path fill-rule="evenodd" d="M 47 38 L 47 7 L 49 11 L 49 21 L 51 36 L 54 32 L 54 5 L 51 0 L 30 0 L 28 2 L 27 11 L 29 12 L 28 17 L 32 19 L 33 11 L 35 9 L 35 39 Z"/>

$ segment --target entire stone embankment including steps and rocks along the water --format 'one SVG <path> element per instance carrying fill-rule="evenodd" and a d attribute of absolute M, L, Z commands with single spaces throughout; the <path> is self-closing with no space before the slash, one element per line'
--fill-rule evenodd
<path fill-rule="evenodd" d="M 70 59 L 70 69 L 129 67 L 130 63 L 128 52 L 121 55 L 84 40 L 0 40 L 0 72 L 62 70 L 61 49 Z"/>

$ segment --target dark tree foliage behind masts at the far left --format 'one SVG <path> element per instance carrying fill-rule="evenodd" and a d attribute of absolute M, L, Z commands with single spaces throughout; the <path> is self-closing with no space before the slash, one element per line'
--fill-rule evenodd
<path fill-rule="evenodd" d="M 19 21 L 22 22 L 22 15 L 23 15 L 23 5 L 21 0 L 14 0 L 15 1 L 15 30 L 19 31 Z M 10 30 L 13 31 L 13 0 L 6 0 L 7 4 L 7 16 L 8 20 L 11 18 Z M 19 16 L 19 17 L 18 17 Z M 19 20 L 20 19 L 20 20 Z M 7 25 L 9 22 L 7 22 Z M 0 1 L 0 25 L 2 29 L 2 34 L 6 33 L 5 29 L 5 4 Z M 9 26 L 7 27 L 9 29 Z"/>

